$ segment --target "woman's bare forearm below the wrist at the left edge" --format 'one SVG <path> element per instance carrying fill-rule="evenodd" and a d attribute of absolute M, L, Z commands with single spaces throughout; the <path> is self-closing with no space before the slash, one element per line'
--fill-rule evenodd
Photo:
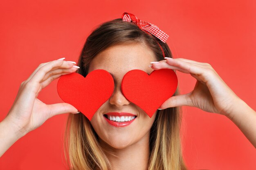
<path fill-rule="evenodd" d="M 7 119 L 0 122 L 0 157 L 6 152 L 22 134 L 16 127 L 12 126 Z"/>

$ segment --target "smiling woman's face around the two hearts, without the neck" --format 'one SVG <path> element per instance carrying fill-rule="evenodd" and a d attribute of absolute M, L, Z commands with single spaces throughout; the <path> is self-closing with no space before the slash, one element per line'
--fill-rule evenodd
<path fill-rule="evenodd" d="M 104 69 L 114 76 L 115 82 L 112 96 L 101 105 L 91 120 L 92 127 L 97 132 L 101 144 L 120 149 L 132 144 L 148 142 L 156 112 L 150 118 L 139 106 L 128 101 L 121 92 L 121 81 L 124 75 L 133 69 L 150 74 L 153 69 L 148 65 L 155 60 L 153 52 L 148 47 L 139 43 L 130 43 L 111 46 L 94 57 L 90 63 L 89 73 L 96 69 Z M 136 116 L 128 126 L 118 127 L 111 125 L 104 116 L 110 112 L 125 112 Z M 119 117 L 121 118 L 121 116 Z"/>

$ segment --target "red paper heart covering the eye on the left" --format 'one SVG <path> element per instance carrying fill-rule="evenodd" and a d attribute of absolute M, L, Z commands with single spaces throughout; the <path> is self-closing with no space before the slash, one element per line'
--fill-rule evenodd
<path fill-rule="evenodd" d="M 74 106 L 89 120 L 114 91 L 114 80 L 108 71 L 97 69 L 86 77 L 78 73 L 62 75 L 57 91 L 61 99 Z"/>

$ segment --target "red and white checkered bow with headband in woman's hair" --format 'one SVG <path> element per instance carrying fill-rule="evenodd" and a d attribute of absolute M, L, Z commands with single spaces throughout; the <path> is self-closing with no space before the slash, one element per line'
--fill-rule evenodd
<path fill-rule="evenodd" d="M 142 20 L 138 19 L 132 13 L 127 13 L 127 12 L 123 13 L 122 19 L 125 22 L 131 22 L 131 21 L 135 22 L 135 24 L 137 24 L 137 26 L 141 30 L 145 31 L 148 34 L 151 33 L 151 34 L 155 35 L 155 37 L 157 37 L 158 39 L 160 39 L 164 43 L 167 41 L 167 39 L 169 37 L 169 35 L 167 35 L 163 31 L 161 31 L 156 25 L 150 24 L 149 22 L 146 22 L 146 21 L 142 21 Z M 165 57 L 164 50 L 162 49 L 162 46 L 158 42 L 157 42 L 157 44 L 160 46 L 160 48 L 162 50 L 162 53 L 163 53 L 163 56 Z"/>

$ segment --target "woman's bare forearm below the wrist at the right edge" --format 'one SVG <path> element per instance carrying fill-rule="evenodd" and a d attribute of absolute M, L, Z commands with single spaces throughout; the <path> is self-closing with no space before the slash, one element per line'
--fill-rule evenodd
<path fill-rule="evenodd" d="M 227 115 L 256 148 L 256 112 L 240 99 L 233 112 Z"/>

